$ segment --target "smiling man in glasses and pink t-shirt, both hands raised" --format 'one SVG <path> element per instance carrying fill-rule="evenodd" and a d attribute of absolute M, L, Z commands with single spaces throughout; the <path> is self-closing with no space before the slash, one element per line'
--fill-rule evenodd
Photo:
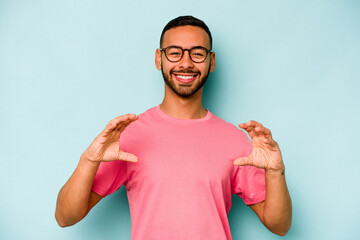
<path fill-rule="evenodd" d="M 155 53 L 166 83 L 163 102 L 111 120 L 95 138 L 60 190 L 60 226 L 77 223 L 124 184 L 132 239 L 231 239 L 231 194 L 270 231 L 287 233 L 291 200 L 270 130 L 255 121 L 240 124 L 251 142 L 202 106 L 203 85 L 215 68 L 211 48 L 199 19 L 178 17 L 165 26 Z"/>

